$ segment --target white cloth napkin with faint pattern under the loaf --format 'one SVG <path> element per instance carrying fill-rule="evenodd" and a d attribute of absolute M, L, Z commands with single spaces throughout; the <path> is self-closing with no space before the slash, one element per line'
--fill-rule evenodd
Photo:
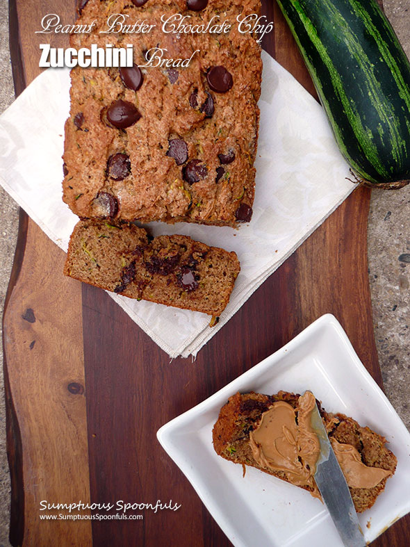
<path fill-rule="evenodd" d="M 185 234 L 236 251 L 240 275 L 218 325 L 210 328 L 204 313 L 109 293 L 170 357 L 196 355 L 354 189 L 322 108 L 274 59 L 265 52 L 262 57 L 252 222 L 237 230 L 150 224 L 154 235 Z M 68 113 L 69 71 L 49 69 L 0 117 L 0 183 L 65 251 L 78 220 L 61 199 Z"/>

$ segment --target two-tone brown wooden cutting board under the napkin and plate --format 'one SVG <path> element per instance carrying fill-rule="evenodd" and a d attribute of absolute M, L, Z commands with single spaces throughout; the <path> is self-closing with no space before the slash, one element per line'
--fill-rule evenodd
<path fill-rule="evenodd" d="M 35 34 L 47 13 L 74 22 L 74 0 L 10 0 L 17 95 L 40 72 L 38 44 L 67 45 L 65 35 Z M 274 20 L 274 32 L 263 47 L 314 93 L 272 0 L 264 2 L 264 13 Z M 21 211 L 3 316 L 12 544 L 228 546 L 188 480 L 159 446 L 156 430 L 327 312 L 338 318 L 382 385 L 368 286 L 369 201 L 370 190 L 355 190 L 195 362 L 171 363 L 104 291 L 63 277 L 65 254 Z M 42 500 L 173 500 L 182 507 L 142 512 L 142 521 L 74 523 L 41 521 Z M 405 517 L 374 545 L 402 547 L 409 538 Z"/>

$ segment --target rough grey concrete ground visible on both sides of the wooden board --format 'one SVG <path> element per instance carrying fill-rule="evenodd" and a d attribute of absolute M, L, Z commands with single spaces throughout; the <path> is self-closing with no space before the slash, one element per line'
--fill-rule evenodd
<path fill-rule="evenodd" d="M 410 2 L 384 0 L 410 56 Z M 0 0 L 0 113 L 14 99 L 8 51 L 8 2 Z M 368 259 L 375 338 L 388 398 L 410 427 L 410 185 L 397 191 L 374 190 L 368 225 Z M 0 312 L 17 240 L 17 206 L 0 188 Z M 405 255 L 405 256 L 403 256 Z M 3 353 L 0 348 L 0 359 Z M 0 367 L 0 376 L 2 367 Z M 3 381 L 0 377 L 2 389 Z M 6 457 L 4 398 L 0 391 L 0 547 L 8 546 L 10 479 Z"/>

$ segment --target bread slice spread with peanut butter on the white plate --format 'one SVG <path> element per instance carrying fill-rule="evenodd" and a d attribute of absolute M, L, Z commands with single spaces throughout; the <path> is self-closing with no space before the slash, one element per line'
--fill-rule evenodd
<path fill-rule="evenodd" d="M 231 462 L 242 464 L 244 473 L 245 466 L 253 466 L 320 498 L 313 478 L 315 465 L 307 456 L 309 453 L 311 457 L 314 443 L 312 439 L 306 441 L 309 435 L 302 427 L 306 418 L 306 393 L 236 393 L 222 407 L 213 426 L 215 452 Z M 311 393 L 310 396 L 314 400 Z M 384 436 L 369 427 L 361 427 L 344 414 L 328 413 L 319 401 L 316 402 L 345 474 L 356 512 L 366 511 L 394 474 L 397 459 L 386 448 Z M 284 417 L 287 423 L 283 422 Z M 272 435 L 266 436 L 270 446 L 261 441 L 264 428 L 265 432 L 272 432 L 272 429 L 266 429 L 267 425 L 273 426 L 275 432 L 274 439 Z"/>

